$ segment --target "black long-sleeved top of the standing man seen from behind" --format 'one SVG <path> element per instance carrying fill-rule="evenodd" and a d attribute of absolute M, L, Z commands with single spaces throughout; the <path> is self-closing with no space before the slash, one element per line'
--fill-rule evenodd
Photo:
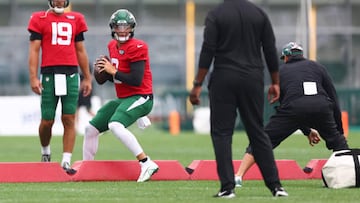
<path fill-rule="evenodd" d="M 225 0 L 205 20 L 200 68 L 227 68 L 241 72 L 264 68 L 278 70 L 275 35 L 266 13 L 249 1 Z M 261 72 L 259 72 L 261 73 Z"/>

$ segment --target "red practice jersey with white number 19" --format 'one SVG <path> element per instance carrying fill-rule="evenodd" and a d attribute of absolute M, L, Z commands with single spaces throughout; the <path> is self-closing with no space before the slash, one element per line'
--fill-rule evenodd
<path fill-rule="evenodd" d="M 45 11 L 32 14 L 28 30 L 41 34 L 41 67 L 78 66 L 75 36 L 87 31 L 85 18 L 77 12 L 57 15 Z"/>

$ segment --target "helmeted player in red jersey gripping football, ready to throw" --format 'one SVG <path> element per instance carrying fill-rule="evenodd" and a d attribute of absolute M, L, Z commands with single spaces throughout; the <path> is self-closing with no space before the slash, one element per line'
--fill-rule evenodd
<path fill-rule="evenodd" d="M 102 106 L 86 127 L 83 159 L 94 159 L 100 133 L 110 129 L 139 160 L 141 173 L 137 182 L 145 182 L 159 167 L 145 154 L 127 127 L 149 114 L 153 107 L 148 46 L 134 38 L 136 20 L 128 10 L 114 12 L 109 25 L 113 38 L 108 44 L 110 61 L 101 57 L 101 60 L 96 60 L 96 66 L 113 76 L 117 98 Z"/>

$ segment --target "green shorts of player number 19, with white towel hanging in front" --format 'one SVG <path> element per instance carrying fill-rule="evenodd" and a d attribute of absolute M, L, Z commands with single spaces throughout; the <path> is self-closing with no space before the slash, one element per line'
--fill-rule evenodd
<path fill-rule="evenodd" d="M 79 96 L 79 74 L 66 75 L 66 95 L 55 96 L 54 74 L 42 74 L 41 118 L 54 120 L 58 101 L 62 114 L 75 114 Z"/>

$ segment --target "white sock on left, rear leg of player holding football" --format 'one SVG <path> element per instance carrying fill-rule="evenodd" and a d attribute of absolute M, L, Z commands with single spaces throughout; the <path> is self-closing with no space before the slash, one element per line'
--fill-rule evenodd
<path fill-rule="evenodd" d="M 83 160 L 94 160 L 99 146 L 99 131 L 89 124 L 85 128 L 83 142 Z"/>

